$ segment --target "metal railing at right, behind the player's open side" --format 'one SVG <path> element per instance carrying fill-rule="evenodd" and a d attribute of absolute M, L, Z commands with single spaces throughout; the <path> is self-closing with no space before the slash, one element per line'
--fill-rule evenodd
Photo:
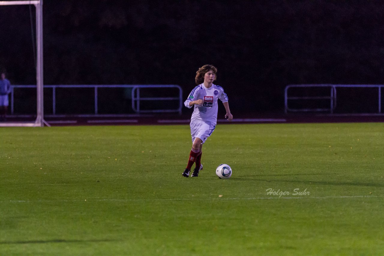
<path fill-rule="evenodd" d="M 333 111 L 336 108 L 337 102 L 337 88 L 377 88 L 378 90 L 378 113 L 381 114 L 381 88 L 384 87 L 384 84 L 291 84 L 285 87 L 284 92 L 284 106 L 285 113 L 288 111 L 292 112 L 319 112 L 319 111 L 329 111 L 333 114 Z M 329 88 L 329 96 L 289 96 L 288 90 L 290 88 Z M 288 100 L 316 100 L 316 99 L 328 99 L 329 108 L 300 108 L 294 109 L 288 106 Z"/>

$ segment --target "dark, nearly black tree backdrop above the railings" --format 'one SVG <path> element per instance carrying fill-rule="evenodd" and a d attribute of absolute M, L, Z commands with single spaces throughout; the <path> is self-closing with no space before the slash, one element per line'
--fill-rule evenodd
<path fill-rule="evenodd" d="M 35 8 L 0 7 L 0 68 L 35 84 Z M 287 84 L 382 84 L 382 1 L 45 0 L 45 84 L 179 84 L 203 64 L 232 111 L 280 111 Z M 35 29 L 35 28 L 33 28 Z"/>

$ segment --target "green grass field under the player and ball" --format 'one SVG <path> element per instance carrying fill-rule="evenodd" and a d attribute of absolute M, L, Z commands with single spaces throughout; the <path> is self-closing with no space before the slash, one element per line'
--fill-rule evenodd
<path fill-rule="evenodd" d="M 383 128 L 2 128 L 0 255 L 383 255 Z"/>

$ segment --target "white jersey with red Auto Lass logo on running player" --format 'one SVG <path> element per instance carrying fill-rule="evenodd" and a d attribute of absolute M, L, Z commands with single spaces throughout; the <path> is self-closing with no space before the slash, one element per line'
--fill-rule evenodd
<path fill-rule="evenodd" d="M 196 86 L 188 96 L 188 99 L 184 102 L 185 107 L 191 108 L 189 102 L 202 99 L 204 101 L 203 106 L 194 106 L 191 121 L 204 121 L 213 122 L 217 121 L 217 100 L 227 102 L 228 97 L 225 94 L 224 89 L 221 86 L 212 84 L 211 88 L 206 88 L 204 84 Z"/>

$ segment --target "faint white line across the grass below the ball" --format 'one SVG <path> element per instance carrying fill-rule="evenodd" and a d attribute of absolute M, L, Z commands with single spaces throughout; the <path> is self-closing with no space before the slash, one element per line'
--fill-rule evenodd
<path fill-rule="evenodd" d="M 94 201 L 116 201 L 116 202 L 129 202 L 129 201 L 210 201 L 210 200 L 271 200 L 271 199 L 327 199 L 327 198 L 372 198 L 372 197 L 384 197 L 384 195 L 354 195 L 354 196 L 325 196 L 325 197 L 247 197 L 247 198 L 153 198 L 153 199 L 88 199 L 88 202 Z M 0 201 L 0 203 L 55 203 L 55 202 L 81 202 L 87 200 L 9 200 Z"/>

